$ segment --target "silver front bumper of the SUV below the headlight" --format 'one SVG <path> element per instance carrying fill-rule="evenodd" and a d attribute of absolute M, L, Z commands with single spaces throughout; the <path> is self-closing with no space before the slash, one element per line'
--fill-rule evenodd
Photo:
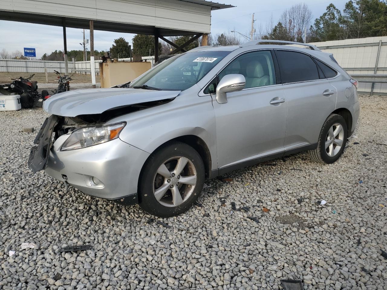
<path fill-rule="evenodd" d="M 60 151 L 67 138 L 68 135 L 60 136 L 53 144 L 45 169 L 47 174 L 98 198 L 138 203 L 137 184 L 149 153 L 119 138 L 87 148 Z"/>

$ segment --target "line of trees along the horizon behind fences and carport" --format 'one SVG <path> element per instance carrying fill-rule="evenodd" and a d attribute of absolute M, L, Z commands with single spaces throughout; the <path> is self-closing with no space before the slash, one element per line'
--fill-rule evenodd
<path fill-rule="evenodd" d="M 275 24 L 274 24 L 275 23 Z M 387 36 L 387 2 L 384 0 L 350 0 L 340 11 L 329 4 L 326 11 L 314 20 L 312 24 L 312 11 L 305 3 L 293 5 L 284 10 L 278 21 L 271 19 L 265 24 L 259 24 L 253 38 L 276 39 L 298 42 L 319 42 L 350 38 L 364 38 L 370 36 Z M 248 34 L 248 33 L 247 33 Z M 187 42 L 193 35 L 171 36 L 169 40 L 177 46 Z M 306 39 L 305 39 L 306 38 Z M 241 36 L 235 32 L 227 31 L 220 34 L 209 34 L 208 45 L 239 45 L 249 40 L 248 36 Z M 112 58 L 128 58 L 130 53 L 141 56 L 154 55 L 154 36 L 136 34 L 132 39 L 132 47 L 124 38 L 114 40 L 110 48 Z M 189 50 L 201 45 L 199 38 L 190 43 L 185 49 Z M 131 49 L 131 50 L 130 50 Z M 175 47 L 159 40 L 159 55 L 169 54 Z M 105 51 L 94 51 L 95 58 L 101 58 Z M 181 53 L 181 51 L 179 52 Z M 90 53 L 87 52 L 87 60 Z M 83 60 L 83 50 L 67 52 L 68 60 Z M 0 51 L 0 58 L 27 59 L 21 51 L 8 53 L 6 49 Z M 53 51 L 44 54 L 42 60 L 63 61 L 62 51 Z"/>

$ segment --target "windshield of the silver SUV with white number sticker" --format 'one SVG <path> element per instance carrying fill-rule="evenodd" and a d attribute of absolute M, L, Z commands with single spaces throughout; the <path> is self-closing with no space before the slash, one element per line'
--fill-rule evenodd
<path fill-rule="evenodd" d="M 130 84 L 162 90 L 186 90 L 199 82 L 231 51 L 197 51 L 174 56 Z"/>

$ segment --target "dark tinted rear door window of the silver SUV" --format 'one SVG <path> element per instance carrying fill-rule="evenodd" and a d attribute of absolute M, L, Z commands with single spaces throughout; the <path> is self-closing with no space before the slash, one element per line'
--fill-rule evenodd
<path fill-rule="evenodd" d="M 283 84 L 318 80 L 319 70 L 312 58 L 303 53 L 277 50 L 276 56 Z"/>

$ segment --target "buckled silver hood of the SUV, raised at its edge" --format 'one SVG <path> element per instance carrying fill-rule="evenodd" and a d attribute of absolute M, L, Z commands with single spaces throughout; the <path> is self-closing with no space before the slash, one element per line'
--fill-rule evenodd
<path fill-rule="evenodd" d="M 174 99 L 180 92 L 122 88 L 71 90 L 49 97 L 43 102 L 43 109 L 50 114 L 66 117 L 101 114 L 119 107 Z"/>

